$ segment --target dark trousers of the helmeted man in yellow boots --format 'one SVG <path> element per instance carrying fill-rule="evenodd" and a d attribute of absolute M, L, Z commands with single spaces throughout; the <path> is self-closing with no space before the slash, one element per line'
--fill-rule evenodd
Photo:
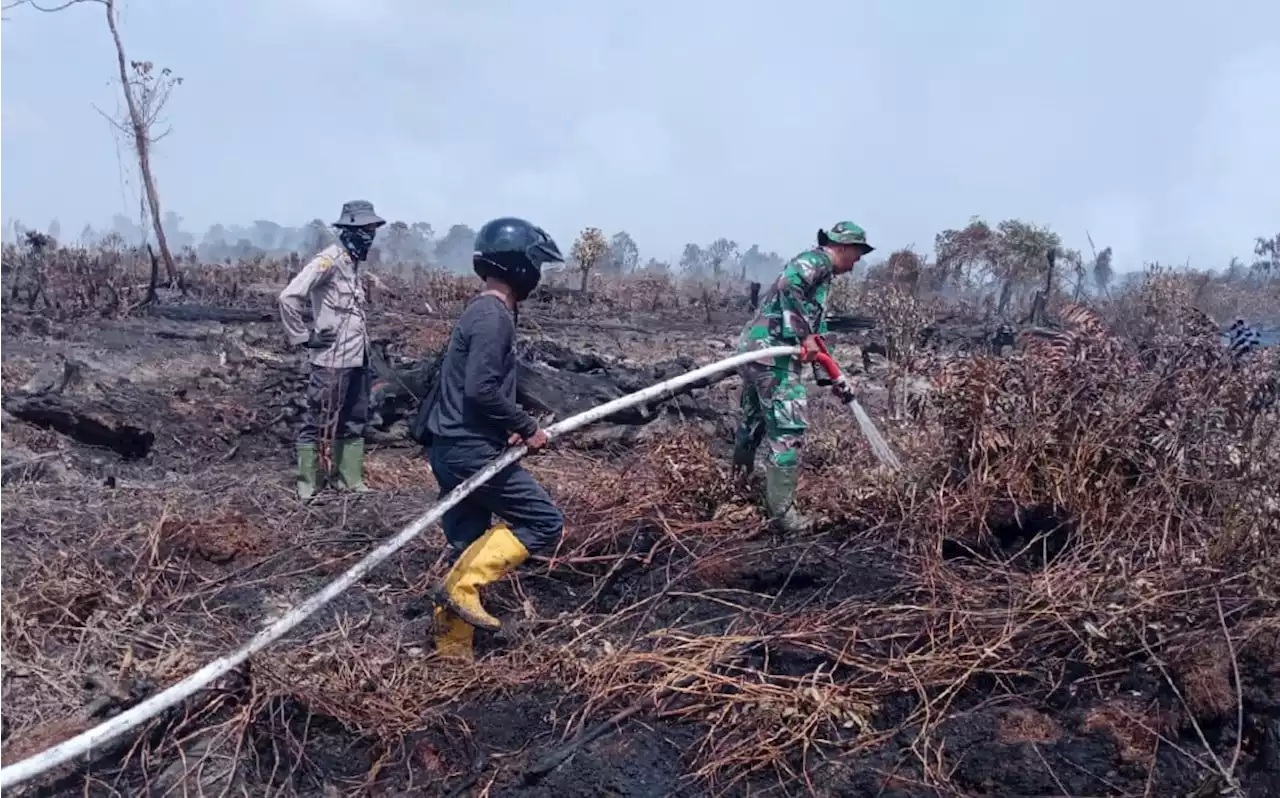
<path fill-rule="evenodd" d="M 502 451 L 484 441 L 433 441 L 430 462 L 440 496 L 493 462 Z M 440 519 L 444 539 L 449 543 L 451 562 L 489 529 L 495 515 L 511 525 L 516 539 L 531 552 L 554 547 L 564 529 L 564 515 L 552 502 L 547 489 L 518 462 L 513 462 Z"/>

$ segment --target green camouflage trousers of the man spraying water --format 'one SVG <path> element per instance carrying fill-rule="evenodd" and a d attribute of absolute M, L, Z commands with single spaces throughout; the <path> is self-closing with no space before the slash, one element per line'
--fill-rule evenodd
<path fill-rule="evenodd" d="M 796 468 L 809 427 L 800 361 L 782 356 L 774 357 L 772 365 L 749 362 L 739 374 L 742 378 L 742 419 L 737 427 L 737 444 L 755 452 L 767 438 L 769 462 Z"/>

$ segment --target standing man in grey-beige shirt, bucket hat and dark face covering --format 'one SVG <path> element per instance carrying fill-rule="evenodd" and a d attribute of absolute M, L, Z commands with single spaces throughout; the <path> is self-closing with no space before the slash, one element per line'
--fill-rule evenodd
<path fill-rule="evenodd" d="M 334 470 L 348 491 L 365 493 L 365 424 L 369 421 L 369 338 L 360 270 L 387 222 L 366 200 L 342 206 L 338 242 L 302 266 L 280 292 L 280 319 L 289 343 L 311 354 L 307 407 L 297 437 L 298 497 L 320 487 L 317 443 L 330 444 Z M 302 320 L 310 305 L 312 329 Z"/>

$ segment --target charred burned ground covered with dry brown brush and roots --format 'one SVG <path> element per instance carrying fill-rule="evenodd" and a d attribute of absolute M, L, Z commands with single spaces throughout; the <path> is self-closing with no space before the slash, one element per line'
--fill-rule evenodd
<path fill-rule="evenodd" d="M 397 362 L 448 330 L 376 318 Z M 740 320 L 531 318 L 526 355 L 626 384 Z M 435 497 L 387 418 L 376 493 L 297 502 L 305 369 L 271 324 L 5 329 L 0 765 L 234 648 Z M 1238 369 L 1078 346 L 922 366 L 920 419 L 859 377 L 904 476 L 815 395 L 801 539 L 730 479 L 732 383 L 584 430 L 527 460 L 568 526 L 486 596 L 506 628 L 476 665 L 431 656 L 431 530 L 15 794 L 1280 795 L 1274 419 Z"/>

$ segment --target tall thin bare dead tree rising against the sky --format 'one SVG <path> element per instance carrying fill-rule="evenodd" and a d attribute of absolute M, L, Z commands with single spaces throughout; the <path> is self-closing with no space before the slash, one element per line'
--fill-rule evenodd
<path fill-rule="evenodd" d="M 45 12 L 46 14 L 52 14 L 73 5 L 90 3 L 101 5 L 106 12 L 106 27 L 111 32 L 111 42 L 115 45 L 120 92 L 124 95 L 124 119 L 113 119 L 110 117 L 108 119 L 128 137 L 133 146 L 133 152 L 138 159 L 138 173 L 142 178 L 143 196 L 147 209 L 151 211 L 151 227 L 155 231 L 156 243 L 160 247 L 160 259 L 164 261 L 169 286 L 179 288 L 182 287 L 182 279 L 178 274 L 178 265 L 173 259 L 173 252 L 169 251 L 169 240 L 165 237 L 164 224 L 161 223 L 160 192 L 156 190 L 155 175 L 151 172 L 151 145 L 168 134 L 168 131 L 156 134 L 154 128 L 160 111 L 164 110 L 165 104 L 169 101 L 173 87 L 180 85 L 182 78 L 175 77 L 169 69 L 157 70 L 151 61 L 132 61 L 125 58 L 124 42 L 120 41 L 120 29 L 116 26 L 115 0 L 65 0 L 56 5 L 41 5 L 35 0 L 10 0 L 9 3 L 0 4 L 0 14 L 24 5 L 38 12 Z"/>

